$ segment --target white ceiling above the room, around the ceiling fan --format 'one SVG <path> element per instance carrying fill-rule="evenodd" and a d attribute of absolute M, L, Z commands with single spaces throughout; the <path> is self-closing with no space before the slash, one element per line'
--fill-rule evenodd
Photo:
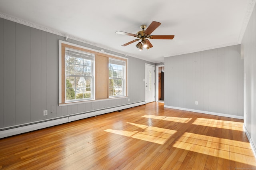
<path fill-rule="evenodd" d="M 0 17 L 154 63 L 164 57 L 240 44 L 256 0 L 0 0 Z M 140 25 L 162 24 L 154 47 L 138 51 Z"/>

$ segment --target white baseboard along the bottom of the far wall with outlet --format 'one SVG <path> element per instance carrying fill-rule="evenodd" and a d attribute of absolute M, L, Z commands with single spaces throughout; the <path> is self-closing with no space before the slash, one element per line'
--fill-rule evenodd
<path fill-rule="evenodd" d="M 224 113 L 215 113 L 215 112 L 208 112 L 208 111 L 200 111 L 200 110 L 195 110 L 195 109 L 187 109 L 187 108 L 182 108 L 182 107 L 173 107 L 173 106 L 166 106 L 166 105 L 164 105 L 164 107 L 170 108 L 170 109 L 178 109 L 178 110 L 182 110 L 182 111 L 190 111 L 190 112 L 196 112 L 196 113 L 204 113 L 204 114 L 208 114 L 208 115 L 216 115 L 216 116 L 230 117 L 230 118 L 236 118 L 236 119 L 244 119 L 243 116 L 228 115 L 228 114 L 224 114 Z"/>

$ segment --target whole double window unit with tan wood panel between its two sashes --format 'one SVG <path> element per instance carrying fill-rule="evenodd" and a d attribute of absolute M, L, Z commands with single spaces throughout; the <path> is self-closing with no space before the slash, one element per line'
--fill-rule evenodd
<path fill-rule="evenodd" d="M 59 105 L 126 97 L 128 58 L 59 40 Z"/>

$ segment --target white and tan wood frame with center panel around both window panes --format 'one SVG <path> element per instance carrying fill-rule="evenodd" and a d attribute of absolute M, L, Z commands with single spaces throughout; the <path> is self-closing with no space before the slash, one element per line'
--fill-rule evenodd
<path fill-rule="evenodd" d="M 72 102 L 65 102 L 65 86 L 66 86 L 66 79 L 65 79 L 65 47 L 69 47 L 72 49 L 76 49 L 76 50 L 80 50 L 80 51 L 85 51 L 88 53 L 93 53 L 95 54 L 94 57 L 94 68 L 93 68 L 93 73 L 94 73 L 94 79 L 93 79 L 93 94 L 94 94 L 94 99 L 90 99 L 90 100 L 82 100 L 82 101 L 72 101 Z M 64 55 L 63 55 L 64 54 Z M 105 59 L 104 59 L 105 58 Z M 119 59 L 119 60 L 123 60 L 126 62 L 125 65 L 125 88 L 124 88 L 124 95 L 122 96 L 118 96 L 119 98 L 128 97 L 128 57 L 121 57 L 119 55 L 114 55 L 111 53 L 106 53 L 105 51 L 100 51 L 100 50 L 96 50 L 96 49 L 91 49 L 88 47 L 84 47 L 82 45 L 77 45 L 74 43 L 70 43 L 70 42 L 66 42 L 63 40 L 59 40 L 59 94 L 58 94 L 58 98 L 59 98 L 59 106 L 67 106 L 67 105 L 74 105 L 74 104 L 80 104 L 80 103 L 87 103 L 87 102 L 95 102 L 95 101 L 107 101 L 107 100 L 112 100 L 118 97 L 109 97 L 109 87 L 108 87 L 108 61 L 109 58 L 113 58 L 113 59 Z M 102 62 L 104 59 L 104 62 Z M 63 65 L 64 63 L 64 65 Z M 102 69 L 102 67 L 104 67 Z M 102 73 L 106 73 L 106 75 L 102 74 Z M 102 81 L 101 82 L 101 77 L 104 75 L 105 76 L 105 80 L 106 81 Z M 97 80 L 97 81 L 96 81 Z M 100 83 L 99 83 L 100 81 Z M 98 83 L 97 83 L 98 82 Z M 96 84 L 97 83 L 97 84 Z M 102 86 L 102 84 L 104 85 L 104 87 Z M 102 97 L 101 93 L 103 91 L 104 92 L 104 96 Z M 97 93 L 98 92 L 98 93 Z M 100 95 L 100 96 L 99 96 Z"/>

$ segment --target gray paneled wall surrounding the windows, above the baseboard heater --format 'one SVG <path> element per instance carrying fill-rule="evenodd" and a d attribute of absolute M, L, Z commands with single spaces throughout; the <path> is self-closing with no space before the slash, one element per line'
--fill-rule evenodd
<path fill-rule="evenodd" d="M 122 98 L 59 107 L 58 40 L 64 37 L 0 18 L 0 128 L 145 101 L 145 63 L 153 63 L 128 56 L 130 102 Z"/>

